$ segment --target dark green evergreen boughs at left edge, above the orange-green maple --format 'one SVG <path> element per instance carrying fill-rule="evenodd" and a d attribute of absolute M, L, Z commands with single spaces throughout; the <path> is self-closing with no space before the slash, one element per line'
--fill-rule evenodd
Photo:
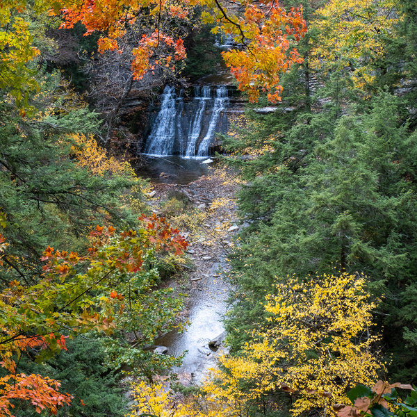
<path fill-rule="evenodd" d="M 7 216 L 10 243 L 5 259 L 10 269 L 1 272 L 6 281 L 22 275 L 31 281 L 38 275 L 48 245 L 79 250 L 97 222 L 135 224 L 136 217 L 122 208 L 120 198 L 135 181 L 122 175 L 92 176 L 70 156 L 68 133 L 92 131 L 98 124 L 97 115 L 85 108 L 25 120 L 12 106 L 1 104 L 0 207 Z M 140 193 L 137 189 L 136 197 Z"/>

